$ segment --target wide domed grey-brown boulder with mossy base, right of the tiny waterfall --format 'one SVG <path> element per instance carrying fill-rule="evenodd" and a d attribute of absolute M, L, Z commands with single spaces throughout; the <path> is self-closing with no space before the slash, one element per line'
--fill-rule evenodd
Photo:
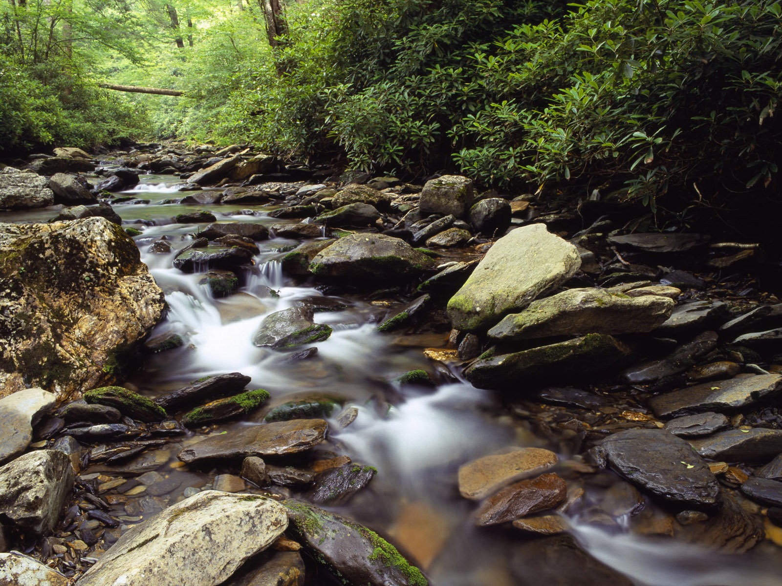
<path fill-rule="evenodd" d="M 321 250 L 309 270 L 318 277 L 347 280 L 404 280 L 432 268 L 429 256 L 384 234 L 350 234 Z"/>

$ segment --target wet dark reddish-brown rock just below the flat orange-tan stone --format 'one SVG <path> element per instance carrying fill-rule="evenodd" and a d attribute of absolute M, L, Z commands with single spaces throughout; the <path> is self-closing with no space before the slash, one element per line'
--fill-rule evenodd
<path fill-rule="evenodd" d="M 565 481 L 554 473 L 511 484 L 486 498 L 475 512 L 477 524 L 497 525 L 551 509 L 565 500 L 567 491 Z"/>

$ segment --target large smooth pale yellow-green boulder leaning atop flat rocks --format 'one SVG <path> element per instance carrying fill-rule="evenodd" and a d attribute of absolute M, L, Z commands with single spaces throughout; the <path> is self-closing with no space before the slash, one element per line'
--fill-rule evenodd
<path fill-rule="evenodd" d="M 482 331 L 557 288 L 581 265 L 576 247 L 543 224 L 516 228 L 486 252 L 448 302 L 454 328 Z"/>

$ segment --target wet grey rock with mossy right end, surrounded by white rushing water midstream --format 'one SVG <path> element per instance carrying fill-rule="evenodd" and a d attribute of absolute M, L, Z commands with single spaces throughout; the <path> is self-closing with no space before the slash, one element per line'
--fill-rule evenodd
<path fill-rule="evenodd" d="M 253 335 L 253 344 L 275 350 L 292 350 L 328 339 L 332 328 L 324 323 L 313 323 L 312 316 L 312 309 L 307 307 L 289 307 L 270 313 Z"/>

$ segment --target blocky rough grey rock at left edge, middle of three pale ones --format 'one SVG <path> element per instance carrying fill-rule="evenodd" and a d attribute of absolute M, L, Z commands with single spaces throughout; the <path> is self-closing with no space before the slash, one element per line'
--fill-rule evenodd
<path fill-rule="evenodd" d="M 57 450 L 27 452 L 0 467 L 0 519 L 22 531 L 51 533 L 72 488 L 68 456 Z"/>

